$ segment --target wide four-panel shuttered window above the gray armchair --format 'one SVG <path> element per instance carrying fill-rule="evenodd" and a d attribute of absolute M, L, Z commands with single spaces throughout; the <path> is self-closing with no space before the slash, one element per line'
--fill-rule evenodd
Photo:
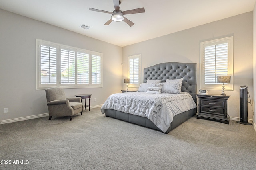
<path fill-rule="evenodd" d="M 102 87 L 102 53 L 36 39 L 36 89 Z"/>

